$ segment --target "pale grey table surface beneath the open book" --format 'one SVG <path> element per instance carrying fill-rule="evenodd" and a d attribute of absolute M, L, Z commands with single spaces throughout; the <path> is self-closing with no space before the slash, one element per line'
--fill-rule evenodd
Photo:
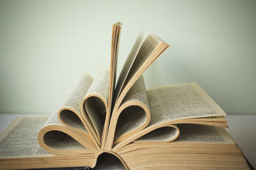
<path fill-rule="evenodd" d="M 37 115 L 37 114 L 33 114 Z M 0 133 L 10 125 L 16 117 L 24 117 L 24 116 L 33 116 L 29 114 L 0 114 Z M 241 148 L 244 153 L 244 156 L 248 161 L 252 164 L 254 168 L 256 168 L 256 115 L 227 115 L 229 128 L 227 128 L 227 132 L 230 136 L 236 141 L 237 145 Z M 112 158 L 113 159 L 113 158 Z M 109 166 L 109 162 L 111 164 L 115 162 L 114 160 L 103 161 L 98 166 L 105 167 Z M 120 164 L 116 164 L 112 169 L 120 169 Z"/>

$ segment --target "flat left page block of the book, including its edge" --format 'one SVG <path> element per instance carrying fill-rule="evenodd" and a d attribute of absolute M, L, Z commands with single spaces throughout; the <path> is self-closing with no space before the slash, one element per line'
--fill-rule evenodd
<path fill-rule="evenodd" d="M 93 166 L 97 156 L 54 155 L 37 142 L 37 133 L 47 116 L 18 117 L 0 136 L 0 169 Z"/>

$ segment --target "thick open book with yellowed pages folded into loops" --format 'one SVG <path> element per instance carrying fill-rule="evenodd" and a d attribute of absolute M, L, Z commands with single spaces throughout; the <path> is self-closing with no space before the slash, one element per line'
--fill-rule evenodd
<path fill-rule="evenodd" d="M 247 168 L 226 113 L 198 85 L 145 89 L 143 72 L 169 45 L 142 32 L 116 81 L 120 22 L 110 69 L 84 73 L 49 117 L 17 118 L 0 137 L 0 168 L 94 167 L 101 153 L 127 169 Z"/>

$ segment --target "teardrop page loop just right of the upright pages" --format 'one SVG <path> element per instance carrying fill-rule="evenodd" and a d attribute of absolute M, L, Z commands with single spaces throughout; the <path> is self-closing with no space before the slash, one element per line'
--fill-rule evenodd
<path fill-rule="evenodd" d="M 144 129 L 149 122 L 147 92 L 144 78 L 141 76 L 127 92 L 117 114 L 112 115 L 108 139 L 113 143 L 123 141 Z"/>

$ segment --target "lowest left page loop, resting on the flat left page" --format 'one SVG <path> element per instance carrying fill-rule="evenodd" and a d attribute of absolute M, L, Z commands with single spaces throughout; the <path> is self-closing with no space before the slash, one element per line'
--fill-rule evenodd
<path fill-rule="evenodd" d="M 52 113 L 40 129 L 37 141 L 44 150 L 56 155 L 97 153 L 90 136 L 62 125 L 57 112 Z"/>

